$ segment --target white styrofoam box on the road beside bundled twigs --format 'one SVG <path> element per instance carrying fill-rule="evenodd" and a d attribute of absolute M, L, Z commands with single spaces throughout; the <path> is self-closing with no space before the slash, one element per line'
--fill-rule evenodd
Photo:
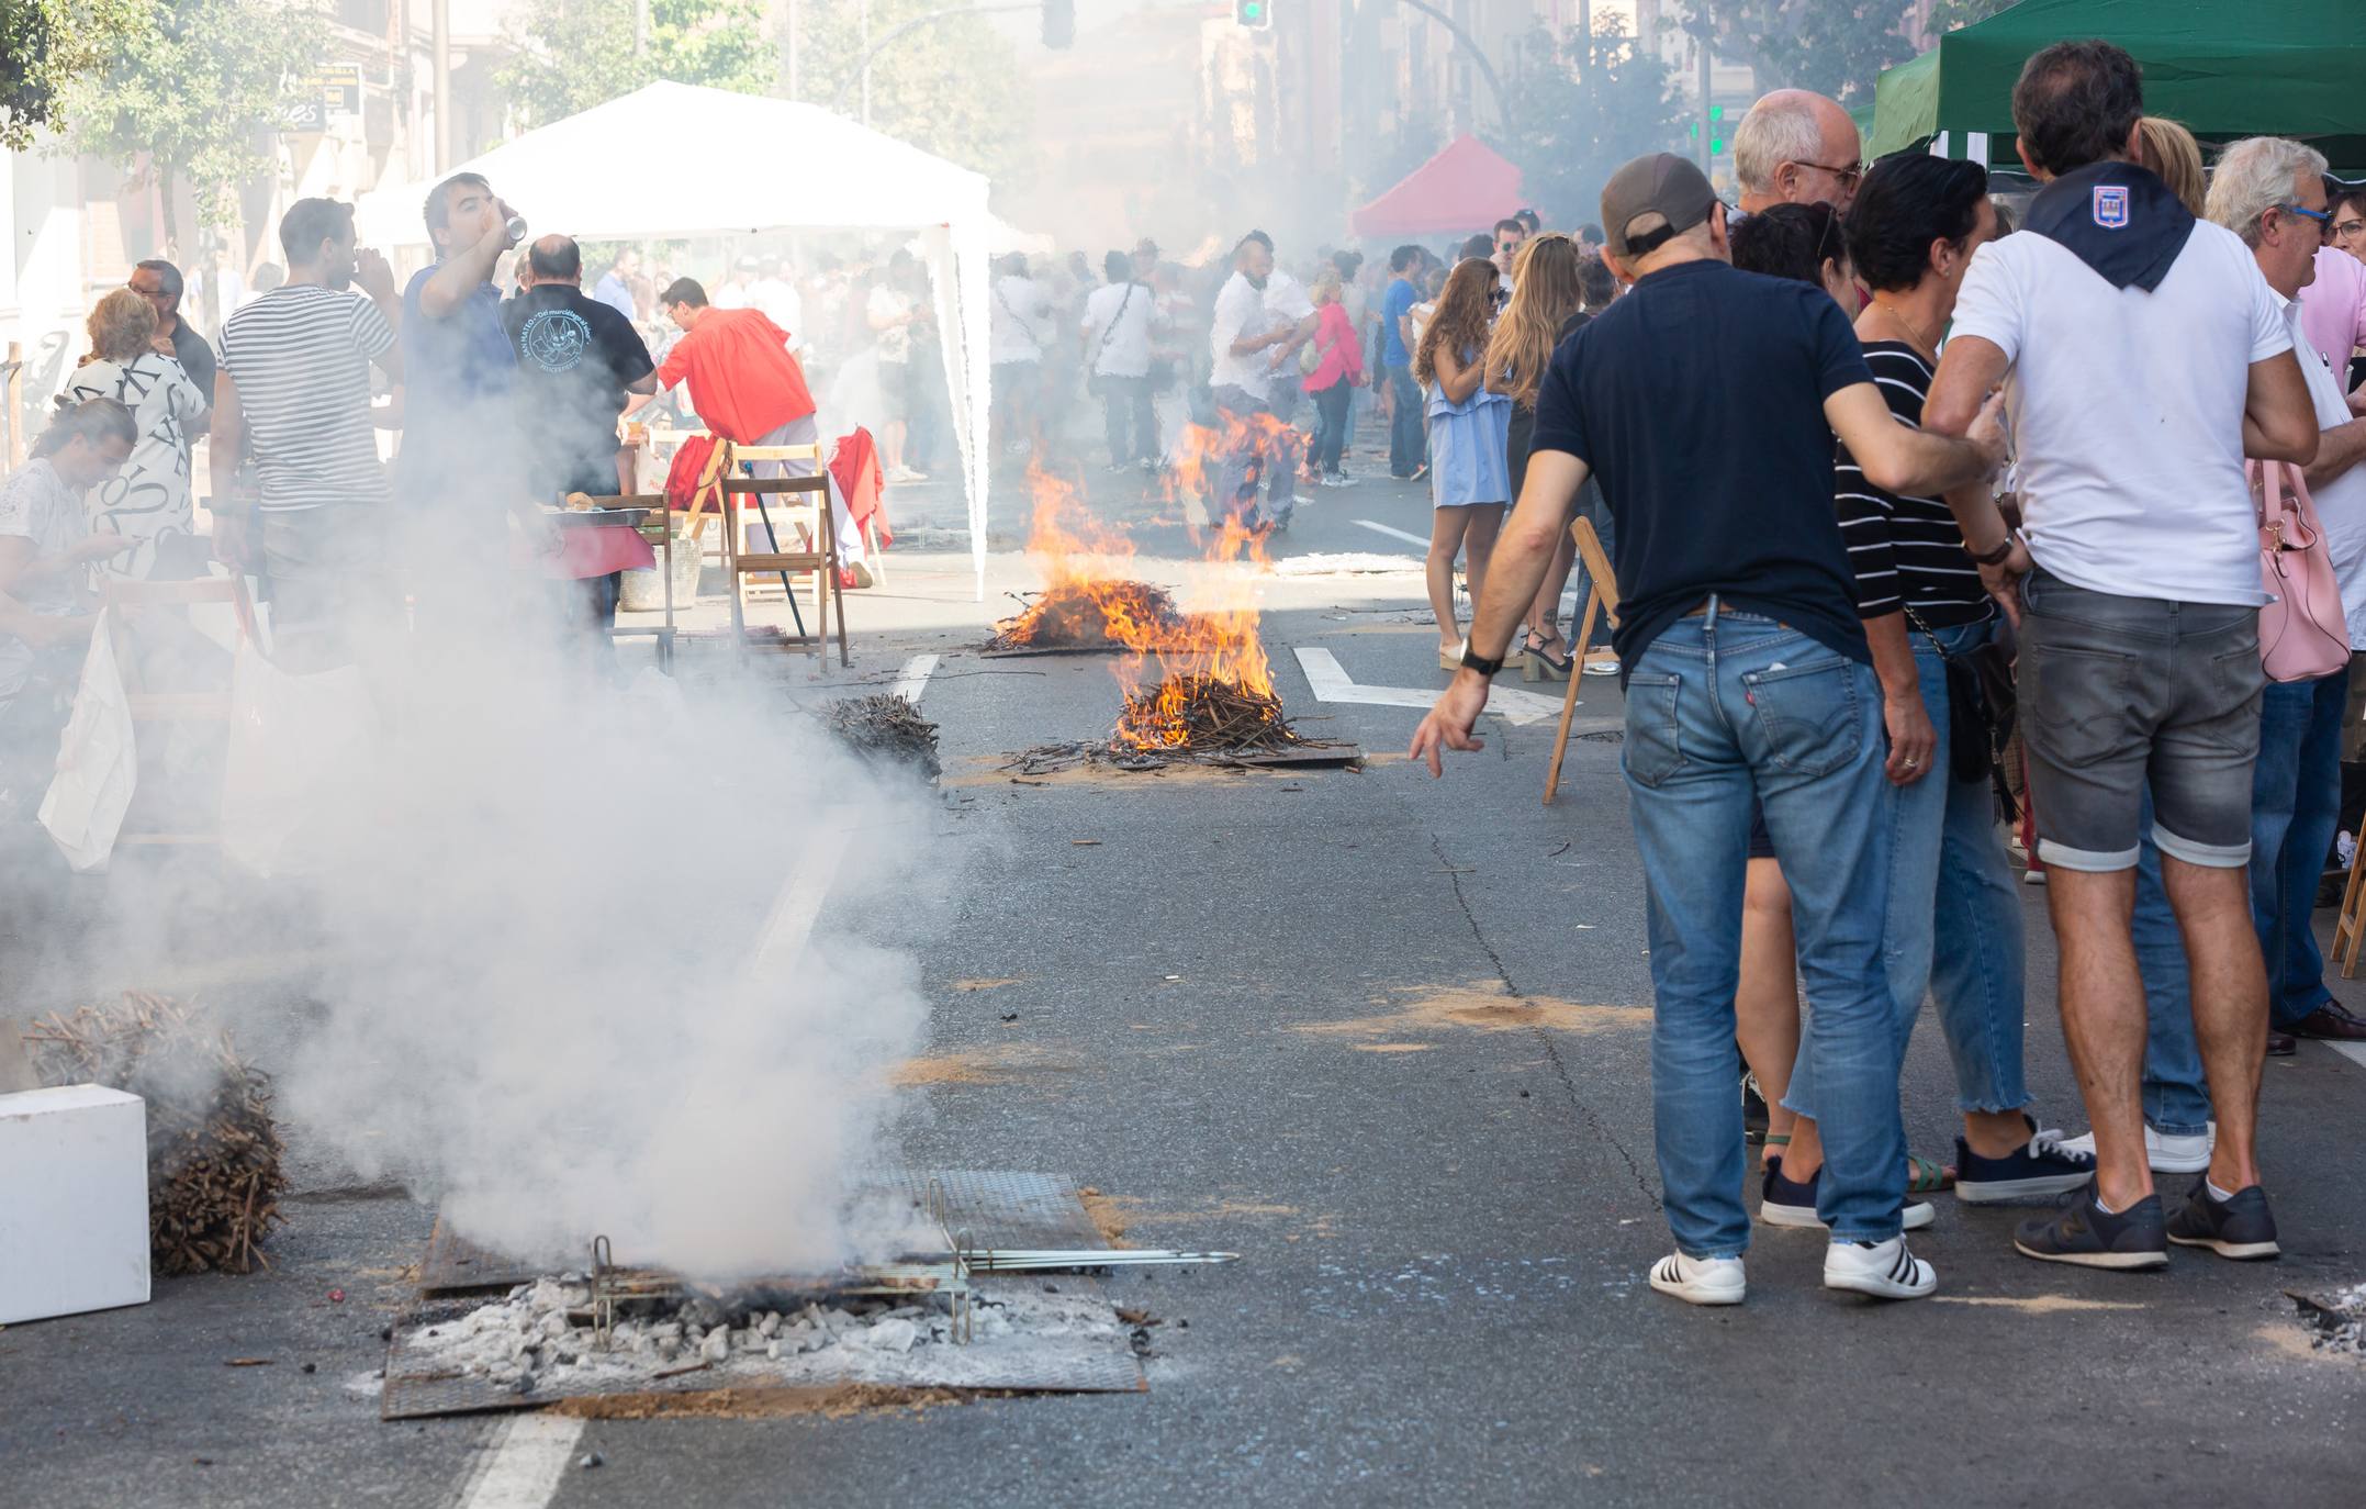
<path fill-rule="evenodd" d="M 147 1102 L 106 1086 L 0 1095 L 0 1325 L 147 1296 Z"/>

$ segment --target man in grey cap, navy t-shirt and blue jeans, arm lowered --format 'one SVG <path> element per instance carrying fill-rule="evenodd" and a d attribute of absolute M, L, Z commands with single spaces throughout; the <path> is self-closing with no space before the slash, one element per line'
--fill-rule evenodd
<path fill-rule="evenodd" d="M 1900 1235 L 1881 686 L 1831 506 L 1831 438 L 1881 487 L 1933 494 L 1990 475 L 2002 435 L 1995 414 L 1964 440 L 1898 423 L 1822 289 L 1732 267 L 1725 206 L 1689 161 L 1621 168 L 1602 225 L 1604 260 L 1633 291 L 1554 352 L 1462 669 L 1413 752 L 1441 773 L 1443 750 L 1479 747 L 1488 676 L 1566 506 L 1597 475 L 1618 525 L 1623 766 L 1649 892 L 1651 1097 L 1675 1232 L 1651 1287 L 1706 1306 L 1746 1289 L 1734 977 L 1756 795 L 1791 875 L 1815 1000 L 1824 1284 L 1919 1298 L 1938 1275 Z"/>

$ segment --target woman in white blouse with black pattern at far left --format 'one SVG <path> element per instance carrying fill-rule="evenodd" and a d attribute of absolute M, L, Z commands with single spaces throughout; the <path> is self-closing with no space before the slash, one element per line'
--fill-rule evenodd
<path fill-rule="evenodd" d="M 123 404 L 140 440 L 130 461 L 99 483 L 85 506 L 97 530 L 130 539 L 128 553 L 106 563 L 123 577 L 189 577 L 203 570 L 189 506 L 189 433 L 206 414 L 206 395 L 163 341 L 156 310 L 130 289 L 116 289 L 90 310 L 90 360 L 66 381 L 66 402 L 106 397 Z"/>

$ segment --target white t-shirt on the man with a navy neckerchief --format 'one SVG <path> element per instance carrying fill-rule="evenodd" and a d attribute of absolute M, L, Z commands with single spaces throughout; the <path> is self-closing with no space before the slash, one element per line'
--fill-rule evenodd
<path fill-rule="evenodd" d="M 2011 362 L 2004 412 L 2039 565 L 2127 598 L 2264 601 L 2243 400 L 2250 364 L 2293 350 L 2293 329 L 2231 229 L 2196 225 L 2151 293 L 2039 234 L 1990 241 L 1954 305 L 1961 336 Z"/>

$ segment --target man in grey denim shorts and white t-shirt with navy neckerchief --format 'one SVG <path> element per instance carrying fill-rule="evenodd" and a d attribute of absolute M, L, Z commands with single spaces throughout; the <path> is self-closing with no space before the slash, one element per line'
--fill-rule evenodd
<path fill-rule="evenodd" d="M 2307 464 L 2316 412 L 2281 300 L 2243 241 L 2139 168 L 2136 64 L 2056 43 L 2013 88 L 2044 184 L 2025 232 L 1973 253 L 1924 428 L 1971 428 L 2004 383 L 2023 539 L 1950 494 L 1987 589 L 2021 622 L 2021 726 L 2061 941 L 2063 1038 L 2096 1178 L 2013 1246 L 2049 1263 L 2160 1268 L 2167 1244 L 2276 1256 L 2255 1154 L 2267 974 L 2252 930 L 2260 561 L 2243 456 Z M 2193 1026 L 2219 1135 L 2163 1216 L 2144 1152 L 2144 982 L 2129 913 L 2141 809 L 2193 960 Z"/>

